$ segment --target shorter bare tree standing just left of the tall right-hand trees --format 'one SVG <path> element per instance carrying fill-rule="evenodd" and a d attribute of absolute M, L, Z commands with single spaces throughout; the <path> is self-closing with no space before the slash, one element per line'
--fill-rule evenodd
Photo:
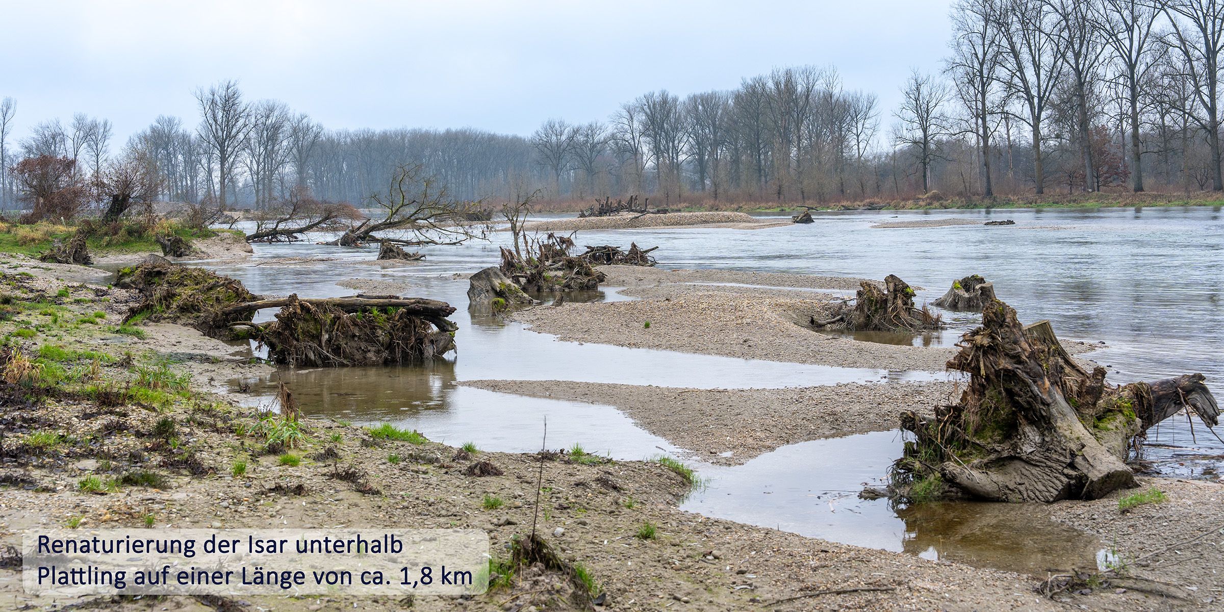
<path fill-rule="evenodd" d="M 901 94 L 901 108 L 896 113 L 901 121 L 897 144 L 913 151 L 922 170 L 922 191 L 927 193 L 930 191 L 930 164 L 938 155 L 939 140 L 949 136 L 947 116 L 944 114 L 947 86 L 914 70 Z"/>

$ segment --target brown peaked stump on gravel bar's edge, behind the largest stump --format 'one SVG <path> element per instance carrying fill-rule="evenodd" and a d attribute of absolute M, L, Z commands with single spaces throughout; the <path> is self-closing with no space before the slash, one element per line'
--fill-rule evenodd
<path fill-rule="evenodd" d="M 832 317 L 812 318 L 815 327 L 841 327 L 853 330 L 920 332 L 942 329 L 944 319 L 936 313 L 914 306 L 914 290 L 896 274 L 884 279 L 884 289 L 870 282 L 859 283 L 854 306 L 842 304 Z"/>

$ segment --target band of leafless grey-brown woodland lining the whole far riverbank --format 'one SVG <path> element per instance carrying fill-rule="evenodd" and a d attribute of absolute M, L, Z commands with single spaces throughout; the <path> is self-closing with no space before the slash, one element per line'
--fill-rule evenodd
<path fill-rule="evenodd" d="M 1224 0 L 960 0 L 949 18 L 944 70 L 897 83 L 895 109 L 819 58 L 733 91 L 625 92 L 610 116 L 541 118 L 528 136 L 328 130 L 220 81 L 193 92 L 197 116 L 159 116 L 120 144 L 84 113 L 12 133 L 37 109 L 0 98 L 0 203 L 28 200 L 34 169 L 38 188 L 95 195 L 147 169 L 159 193 L 142 197 L 266 208 L 297 187 L 362 206 L 405 164 L 459 200 L 540 188 L 659 207 L 1224 190 Z"/>

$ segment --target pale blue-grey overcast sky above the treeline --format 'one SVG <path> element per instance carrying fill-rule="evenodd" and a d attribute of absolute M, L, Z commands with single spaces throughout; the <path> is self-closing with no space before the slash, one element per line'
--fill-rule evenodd
<path fill-rule="evenodd" d="M 815 64 L 879 94 L 887 126 L 947 39 L 945 0 L 0 0 L 0 98 L 17 138 L 76 111 L 110 119 L 114 144 L 159 114 L 195 126 L 192 92 L 225 78 L 329 129 L 529 135 Z"/>

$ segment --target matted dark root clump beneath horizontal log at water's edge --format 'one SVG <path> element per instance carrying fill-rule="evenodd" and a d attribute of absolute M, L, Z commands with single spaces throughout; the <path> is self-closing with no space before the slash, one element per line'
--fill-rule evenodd
<path fill-rule="evenodd" d="M 296 295 L 284 301 L 275 321 L 259 329 L 259 340 L 277 364 L 316 367 L 401 365 L 441 359 L 455 346 L 454 323 L 437 317 L 427 319 L 412 308 L 354 310 L 339 305 L 344 300 L 299 300 Z M 454 312 L 443 306 L 444 315 Z"/>

